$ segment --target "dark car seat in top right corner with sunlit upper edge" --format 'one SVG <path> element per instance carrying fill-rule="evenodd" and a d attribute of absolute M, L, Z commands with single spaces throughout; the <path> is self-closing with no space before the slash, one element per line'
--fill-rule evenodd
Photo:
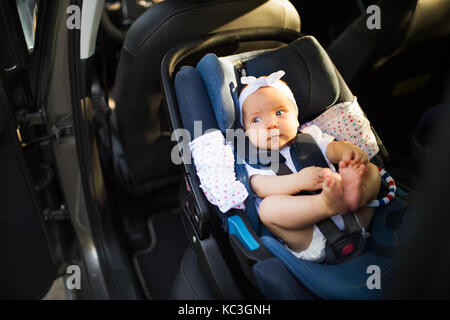
<path fill-rule="evenodd" d="M 369 29 L 369 14 L 363 13 L 327 48 L 347 83 L 365 68 L 381 64 L 415 44 L 450 34 L 447 0 L 384 0 L 376 5 L 380 8 L 380 29 Z"/>

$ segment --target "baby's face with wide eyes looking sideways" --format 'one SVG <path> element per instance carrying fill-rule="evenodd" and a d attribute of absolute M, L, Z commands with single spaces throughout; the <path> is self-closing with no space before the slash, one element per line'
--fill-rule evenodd
<path fill-rule="evenodd" d="M 242 106 L 242 122 L 250 142 L 258 148 L 282 149 L 297 135 L 297 107 L 280 90 L 262 87 Z"/>

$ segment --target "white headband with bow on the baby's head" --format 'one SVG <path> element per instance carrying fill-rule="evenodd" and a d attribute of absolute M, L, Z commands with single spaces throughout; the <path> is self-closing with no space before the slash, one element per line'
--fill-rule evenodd
<path fill-rule="evenodd" d="M 291 89 L 280 79 L 285 75 L 283 70 L 276 71 L 269 76 L 261 76 L 259 78 L 255 78 L 253 76 L 250 77 L 242 77 L 241 83 L 246 84 L 247 86 L 241 91 L 239 96 L 239 110 L 241 116 L 241 124 L 244 126 L 244 120 L 242 119 L 242 106 L 244 105 L 244 101 L 256 90 L 262 87 L 273 87 L 281 90 L 291 102 L 297 107 L 297 102 L 295 101 L 294 94 Z M 297 107 L 298 108 L 298 107 Z"/>

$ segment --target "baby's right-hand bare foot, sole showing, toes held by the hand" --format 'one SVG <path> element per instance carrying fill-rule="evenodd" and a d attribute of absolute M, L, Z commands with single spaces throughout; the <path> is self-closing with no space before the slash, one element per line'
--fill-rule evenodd
<path fill-rule="evenodd" d="M 349 205 L 349 210 L 358 209 L 361 197 L 361 177 L 366 172 L 363 164 L 349 164 L 341 161 L 339 173 L 342 177 L 344 197 Z"/>

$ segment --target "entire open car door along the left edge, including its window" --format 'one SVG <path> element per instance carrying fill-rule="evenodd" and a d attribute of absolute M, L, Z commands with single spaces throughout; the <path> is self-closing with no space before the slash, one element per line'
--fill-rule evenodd
<path fill-rule="evenodd" d="M 48 232 L 61 201 L 49 189 L 45 115 L 33 90 L 40 2 L 0 2 L 0 299 L 44 297 L 61 263 Z"/>

